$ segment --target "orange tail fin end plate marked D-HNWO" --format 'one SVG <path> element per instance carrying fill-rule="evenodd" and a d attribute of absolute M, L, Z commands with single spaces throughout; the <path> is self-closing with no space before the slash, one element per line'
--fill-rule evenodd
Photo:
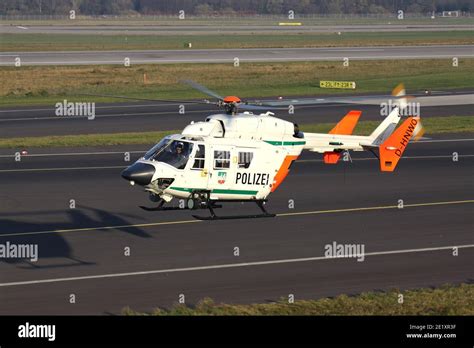
<path fill-rule="evenodd" d="M 419 117 L 408 117 L 405 122 L 403 122 L 402 125 L 380 145 L 379 153 L 381 171 L 393 172 L 398 161 L 402 158 L 403 152 L 405 151 L 419 122 Z"/>

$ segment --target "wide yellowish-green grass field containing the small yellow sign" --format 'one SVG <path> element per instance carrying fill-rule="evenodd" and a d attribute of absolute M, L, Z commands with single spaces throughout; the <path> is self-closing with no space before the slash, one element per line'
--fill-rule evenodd
<path fill-rule="evenodd" d="M 143 75 L 147 76 L 144 83 Z M 474 87 L 474 59 L 381 60 L 233 64 L 170 64 L 123 66 L 2 67 L 0 106 L 51 104 L 69 101 L 117 102 L 80 93 L 157 99 L 207 96 L 180 83 L 192 79 L 219 92 L 240 97 L 389 93 L 404 82 L 408 92 Z M 319 80 L 356 81 L 356 90 L 321 89 Z"/>

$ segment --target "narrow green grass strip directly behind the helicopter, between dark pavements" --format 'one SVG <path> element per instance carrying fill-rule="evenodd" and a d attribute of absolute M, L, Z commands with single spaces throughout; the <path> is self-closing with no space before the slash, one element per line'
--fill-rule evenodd
<path fill-rule="evenodd" d="M 93 122 L 84 120 L 84 122 Z M 380 122 L 361 121 L 357 124 L 354 134 L 368 135 Z M 474 133 L 474 116 L 430 117 L 423 119 L 426 135 L 440 133 Z M 305 124 L 300 128 L 303 132 L 327 133 L 334 127 L 334 123 Z M 130 133 L 102 133 L 86 135 L 62 135 L 25 138 L 0 139 L 0 148 L 32 148 L 32 147 L 83 147 L 83 146 L 112 146 L 131 144 L 155 144 L 168 134 L 181 133 L 181 130 L 130 132 Z"/>

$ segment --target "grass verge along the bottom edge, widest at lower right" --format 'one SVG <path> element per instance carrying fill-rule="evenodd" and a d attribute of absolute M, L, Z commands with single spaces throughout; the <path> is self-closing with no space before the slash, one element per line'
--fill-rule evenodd
<path fill-rule="evenodd" d="M 398 302 L 403 294 L 403 303 Z M 144 315 L 124 308 L 122 314 Z M 474 285 L 442 286 L 388 292 L 365 292 L 356 296 L 340 295 L 319 300 L 288 303 L 231 305 L 204 299 L 193 307 L 175 305 L 154 309 L 151 315 L 474 315 Z"/>

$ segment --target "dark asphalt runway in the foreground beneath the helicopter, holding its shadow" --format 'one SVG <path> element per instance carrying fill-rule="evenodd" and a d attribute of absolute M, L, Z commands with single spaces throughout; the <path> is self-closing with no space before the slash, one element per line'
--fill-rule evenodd
<path fill-rule="evenodd" d="M 0 243 L 38 243 L 40 258 L 0 262 L 0 314 L 116 314 L 169 307 L 180 294 L 190 305 L 262 303 L 472 282 L 473 143 L 464 134 L 410 144 L 395 173 L 379 173 L 367 153 L 337 166 L 306 154 L 270 196 L 277 217 L 214 222 L 137 207 L 151 202 L 120 171 L 123 153 L 133 161 L 144 146 L 37 149 L 20 162 L 1 150 Z M 332 242 L 364 244 L 365 260 L 325 258 Z"/>

